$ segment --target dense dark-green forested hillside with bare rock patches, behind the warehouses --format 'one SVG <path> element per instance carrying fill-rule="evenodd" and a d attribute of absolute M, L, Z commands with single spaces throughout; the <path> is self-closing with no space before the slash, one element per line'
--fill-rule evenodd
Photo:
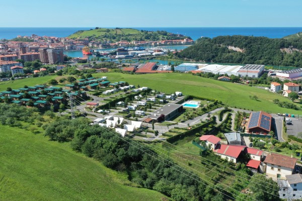
<path fill-rule="evenodd" d="M 302 39 L 253 36 L 201 38 L 177 53 L 182 59 L 216 63 L 302 66 Z"/>

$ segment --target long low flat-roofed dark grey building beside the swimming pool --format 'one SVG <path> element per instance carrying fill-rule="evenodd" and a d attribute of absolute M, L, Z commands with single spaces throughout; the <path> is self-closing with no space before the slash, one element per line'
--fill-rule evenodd
<path fill-rule="evenodd" d="M 169 121 L 175 116 L 181 114 L 183 111 L 183 106 L 178 104 L 168 104 L 163 108 L 158 109 L 148 118 L 155 122 Z"/>

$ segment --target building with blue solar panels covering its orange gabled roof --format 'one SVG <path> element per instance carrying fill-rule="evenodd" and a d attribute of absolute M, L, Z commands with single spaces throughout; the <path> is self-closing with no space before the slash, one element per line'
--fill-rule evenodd
<path fill-rule="evenodd" d="M 251 113 L 247 133 L 266 135 L 271 131 L 272 116 L 268 113 L 259 111 Z"/>

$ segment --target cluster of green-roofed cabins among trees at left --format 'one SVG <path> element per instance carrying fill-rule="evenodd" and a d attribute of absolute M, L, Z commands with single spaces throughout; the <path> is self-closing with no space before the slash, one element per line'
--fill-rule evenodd
<path fill-rule="evenodd" d="M 46 91 L 46 94 L 42 94 L 42 90 Z M 28 97 L 25 98 L 25 93 Z M 13 89 L 12 91 L 1 91 L 0 98 L 9 98 L 10 103 L 28 106 L 30 100 L 34 102 L 35 107 L 47 107 L 50 105 L 64 103 L 66 101 L 65 95 L 73 95 L 74 97 L 86 95 L 85 91 L 81 94 L 78 92 L 72 92 L 69 89 L 62 89 L 60 87 L 50 86 L 46 88 L 44 85 L 29 86 L 28 88 Z M 49 100 L 47 97 L 51 97 Z"/>

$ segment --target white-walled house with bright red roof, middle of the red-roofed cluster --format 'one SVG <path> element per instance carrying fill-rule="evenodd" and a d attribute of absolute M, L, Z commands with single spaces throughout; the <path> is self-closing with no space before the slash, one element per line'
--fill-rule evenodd
<path fill-rule="evenodd" d="M 225 160 L 227 159 L 228 161 L 237 163 L 237 160 L 238 160 L 241 152 L 245 148 L 246 148 L 246 146 L 241 146 L 241 145 L 218 144 L 216 146 L 216 148 L 213 150 L 213 152 Z"/>

